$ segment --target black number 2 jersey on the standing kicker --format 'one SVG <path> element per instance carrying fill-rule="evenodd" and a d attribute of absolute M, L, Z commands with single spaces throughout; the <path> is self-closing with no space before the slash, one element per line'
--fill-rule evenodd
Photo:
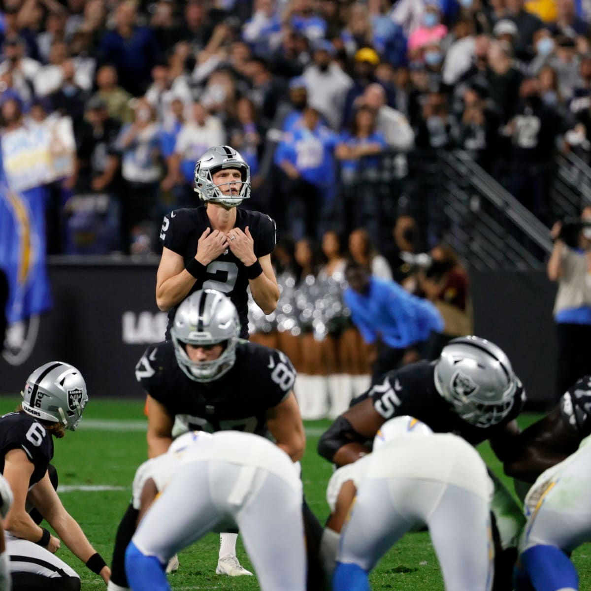
<path fill-rule="evenodd" d="M 268 255 L 275 248 L 275 222 L 267 215 L 236 208 L 235 228 L 244 232 L 248 226 L 254 240 L 256 258 Z M 160 230 L 160 242 L 171 251 L 184 258 L 185 265 L 194 258 L 199 238 L 206 228 L 211 228 L 205 207 L 194 209 L 177 209 L 164 216 Z M 214 289 L 229 296 L 238 310 L 243 339 L 248 339 L 248 277 L 243 262 L 228 249 L 207 265 L 204 280 L 196 281 L 189 293 L 200 289 Z M 166 339 L 170 339 L 170 327 L 174 320 L 177 307 L 168 311 Z"/>

